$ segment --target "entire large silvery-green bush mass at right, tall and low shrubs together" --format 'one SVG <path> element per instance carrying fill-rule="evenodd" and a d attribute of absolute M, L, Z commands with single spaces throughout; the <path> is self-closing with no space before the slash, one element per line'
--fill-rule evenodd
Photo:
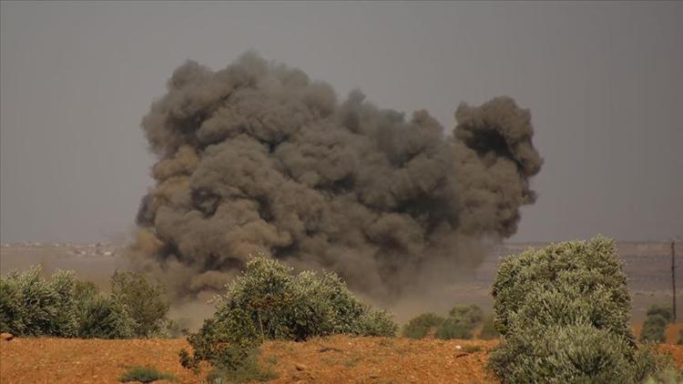
<path fill-rule="evenodd" d="M 636 383 L 669 367 L 654 349 L 637 346 L 626 276 L 610 239 L 505 258 L 493 295 L 503 341 L 488 368 L 504 383 Z"/>

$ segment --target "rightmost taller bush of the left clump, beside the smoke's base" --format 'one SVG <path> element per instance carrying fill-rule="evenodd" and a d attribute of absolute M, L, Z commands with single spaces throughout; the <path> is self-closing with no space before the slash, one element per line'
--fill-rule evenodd
<path fill-rule="evenodd" d="M 160 336 L 166 324 L 168 301 L 164 289 L 150 284 L 137 272 L 114 272 L 111 277 L 111 294 L 127 308 L 135 325 L 133 334 L 138 338 Z"/>

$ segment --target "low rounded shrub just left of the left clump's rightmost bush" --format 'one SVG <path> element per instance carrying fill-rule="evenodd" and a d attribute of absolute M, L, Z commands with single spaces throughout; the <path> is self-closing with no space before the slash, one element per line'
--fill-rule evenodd
<path fill-rule="evenodd" d="M 98 294 L 81 305 L 78 337 L 83 339 L 129 339 L 134 337 L 135 320 L 115 298 Z"/>

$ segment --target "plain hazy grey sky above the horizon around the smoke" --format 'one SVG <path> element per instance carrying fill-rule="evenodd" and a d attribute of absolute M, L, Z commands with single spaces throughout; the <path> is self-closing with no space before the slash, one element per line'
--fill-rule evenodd
<path fill-rule="evenodd" d="M 154 162 L 139 122 L 175 67 L 248 49 L 338 95 L 529 107 L 545 166 L 514 240 L 683 236 L 683 3 L 7 3 L 1 236 L 112 241 Z"/>

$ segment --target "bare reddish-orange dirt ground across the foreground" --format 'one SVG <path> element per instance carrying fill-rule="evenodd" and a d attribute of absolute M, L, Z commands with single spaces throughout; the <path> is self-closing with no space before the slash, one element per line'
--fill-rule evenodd
<path fill-rule="evenodd" d="M 668 332 L 672 339 L 679 328 Z M 496 343 L 334 336 L 270 341 L 260 359 L 277 373 L 274 383 L 481 383 L 495 381 L 484 364 Z M 0 342 L 0 383 L 116 383 L 131 365 L 172 372 L 179 383 L 202 382 L 205 372 L 196 376 L 178 363 L 182 348 L 189 348 L 184 339 L 12 339 Z M 683 365 L 683 346 L 662 349 Z"/>

